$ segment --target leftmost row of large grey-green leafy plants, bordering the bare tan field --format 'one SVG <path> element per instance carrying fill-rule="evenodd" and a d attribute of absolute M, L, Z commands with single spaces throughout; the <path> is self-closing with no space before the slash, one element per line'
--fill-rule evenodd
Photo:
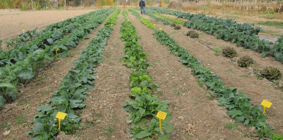
<path fill-rule="evenodd" d="M 1 50 L 0 53 L 0 66 L 4 67 L 7 64 L 13 65 L 16 62 L 23 61 L 25 58 L 29 56 L 29 53 L 33 53 L 36 50 L 39 49 L 45 49 L 48 47 L 54 47 L 58 45 L 58 42 L 68 36 L 68 33 L 74 32 L 78 30 L 80 27 L 89 25 L 92 23 L 93 27 L 96 26 L 96 24 L 101 23 L 105 17 L 104 15 L 107 14 L 109 11 L 106 9 L 103 10 L 97 10 L 94 12 L 91 12 L 91 15 L 89 17 L 85 17 L 84 15 L 81 15 L 83 18 L 78 19 L 76 22 L 71 23 L 66 26 L 61 26 L 59 29 L 56 30 L 47 30 L 45 32 L 40 32 L 39 36 L 36 36 L 32 40 L 27 40 L 27 44 L 23 44 L 21 40 L 14 40 L 11 39 L 9 41 L 6 41 L 5 43 L 8 44 L 7 47 L 11 49 L 4 51 Z M 75 18 L 77 19 L 77 18 Z M 93 19 L 96 19 L 96 22 L 93 22 Z M 64 36 L 66 35 L 66 36 Z M 25 38 L 25 37 L 22 37 Z M 53 51 L 53 53 L 55 53 Z M 65 57 L 66 55 L 59 55 L 59 57 Z"/>

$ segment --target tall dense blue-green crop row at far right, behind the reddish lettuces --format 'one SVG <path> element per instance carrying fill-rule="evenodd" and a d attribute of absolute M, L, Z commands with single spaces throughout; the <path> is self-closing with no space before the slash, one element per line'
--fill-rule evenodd
<path fill-rule="evenodd" d="M 217 17 L 209 17 L 203 14 L 190 14 L 170 9 L 161 9 L 158 7 L 150 7 L 157 13 L 174 15 L 183 19 L 188 19 L 184 26 L 204 31 L 209 35 L 216 35 L 218 39 L 236 43 L 237 46 L 244 46 L 247 49 L 256 50 L 262 53 L 262 57 L 274 56 L 275 59 L 283 63 L 283 43 L 273 43 L 268 40 L 258 38 L 258 33 L 263 31 L 261 28 L 252 27 L 253 24 L 238 24 L 232 19 L 221 19 Z M 278 38 L 279 39 L 279 38 Z"/>

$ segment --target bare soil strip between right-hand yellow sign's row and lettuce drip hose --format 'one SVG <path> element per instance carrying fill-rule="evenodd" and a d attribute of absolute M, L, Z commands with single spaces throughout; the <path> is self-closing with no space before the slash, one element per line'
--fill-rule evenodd
<path fill-rule="evenodd" d="M 150 19 L 148 16 L 146 18 Z M 267 122 L 276 128 L 278 133 L 282 133 L 283 129 L 283 94 L 280 90 L 276 89 L 274 85 L 270 84 L 267 80 L 259 80 L 255 76 L 250 78 L 242 78 L 242 75 L 249 75 L 250 72 L 245 68 L 240 68 L 235 62 L 230 61 L 222 56 L 215 56 L 214 52 L 206 46 L 200 44 L 197 40 L 185 36 L 169 26 L 156 23 L 150 19 L 156 28 L 164 29 L 168 35 L 172 36 L 177 44 L 186 48 L 193 56 L 202 61 L 202 65 L 206 66 L 213 73 L 220 74 L 220 78 L 228 87 L 238 87 L 238 92 L 244 92 L 251 98 L 252 104 L 260 104 L 263 99 L 273 102 L 272 107 L 268 109 Z M 183 28 L 183 27 L 182 27 Z M 268 62 L 262 62 L 268 63 Z"/>

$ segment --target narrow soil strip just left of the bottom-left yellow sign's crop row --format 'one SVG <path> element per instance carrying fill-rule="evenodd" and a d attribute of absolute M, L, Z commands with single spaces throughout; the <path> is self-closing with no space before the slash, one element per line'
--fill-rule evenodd
<path fill-rule="evenodd" d="M 105 21 L 88 35 L 89 39 L 81 40 L 76 48 L 69 51 L 70 57 L 60 58 L 59 61 L 52 63 L 43 73 L 39 74 L 36 80 L 27 84 L 15 102 L 4 105 L 5 109 L 0 111 L 0 121 L 6 126 L 1 124 L 0 131 L 5 132 L 10 127 L 11 132 L 7 136 L 3 136 L 1 133 L 0 139 L 27 139 L 31 137 L 27 136 L 25 132 L 33 127 L 33 116 L 38 113 L 35 109 L 51 100 L 52 91 L 58 90 L 61 83 L 60 78 L 64 78 L 73 66 L 72 60 L 77 60 L 81 50 L 96 36 L 96 31 L 103 27 Z"/>

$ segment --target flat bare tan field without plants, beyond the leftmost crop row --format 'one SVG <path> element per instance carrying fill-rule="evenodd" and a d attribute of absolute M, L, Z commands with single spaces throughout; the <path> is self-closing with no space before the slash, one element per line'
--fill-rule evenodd
<path fill-rule="evenodd" d="M 95 11 L 96 9 L 83 10 L 41 10 L 41 11 L 20 11 L 0 14 L 0 39 L 7 38 L 14 35 L 19 35 L 23 29 L 37 30 L 43 29 L 51 23 L 62 21 L 75 17 L 78 14 L 82 15 Z M 7 38 L 9 39 L 9 38 Z M 6 40 L 7 40 L 6 39 Z"/>

